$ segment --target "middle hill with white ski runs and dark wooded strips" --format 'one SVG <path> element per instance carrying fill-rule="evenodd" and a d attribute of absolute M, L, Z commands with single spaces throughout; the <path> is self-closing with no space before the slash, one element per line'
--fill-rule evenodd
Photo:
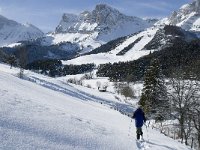
<path fill-rule="evenodd" d="M 63 64 L 94 63 L 99 65 L 133 61 L 151 52 L 170 47 L 176 43 L 177 39 L 190 42 L 197 39 L 197 36 L 176 26 L 151 27 L 145 31 L 108 42 L 90 53 L 63 61 Z"/>

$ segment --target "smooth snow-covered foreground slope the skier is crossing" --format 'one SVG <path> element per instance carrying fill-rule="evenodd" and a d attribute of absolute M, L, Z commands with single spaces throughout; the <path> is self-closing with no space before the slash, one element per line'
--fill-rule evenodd
<path fill-rule="evenodd" d="M 130 118 L 90 101 L 90 93 L 93 99 L 108 94 L 67 84 L 64 92 L 57 79 L 26 72 L 35 78 L 30 82 L 16 77 L 17 71 L 0 65 L 0 149 L 189 150 L 151 129 L 144 129 L 145 142 L 137 142 Z"/>

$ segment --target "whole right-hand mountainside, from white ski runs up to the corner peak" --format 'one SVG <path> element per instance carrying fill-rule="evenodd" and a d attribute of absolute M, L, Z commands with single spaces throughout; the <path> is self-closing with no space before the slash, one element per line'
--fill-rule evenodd
<path fill-rule="evenodd" d="M 147 28 L 124 38 L 108 42 L 81 57 L 63 61 L 64 64 L 95 63 L 105 64 L 136 60 L 150 51 L 169 47 L 177 39 L 191 41 L 197 39 L 200 31 L 200 0 L 182 6 L 168 18 L 164 18 Z M 198 34 L 197 34 L 198 35 Z"/>

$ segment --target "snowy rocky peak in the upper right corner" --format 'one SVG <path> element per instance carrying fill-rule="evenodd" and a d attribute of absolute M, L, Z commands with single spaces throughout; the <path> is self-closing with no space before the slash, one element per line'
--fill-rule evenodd
<path fill-rule="evenodd" d="M 157 24 L 170 24 L 185 30 L 200 32 L 200 0 L 183 5 L 171 16 L 159 21 Z"/>

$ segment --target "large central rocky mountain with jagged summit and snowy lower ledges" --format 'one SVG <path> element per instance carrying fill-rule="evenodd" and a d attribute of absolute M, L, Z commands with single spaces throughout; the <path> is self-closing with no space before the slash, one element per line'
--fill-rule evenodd
<path fill-rule="evenodd" d="M 79 15 L 65 13 L 55 33 L 47 35 L 43 44 L 78 43 L 84 53 L 110 40 L 144 30 L 155 21 L 126 16 L 117 9 L 99 4 L 91 12 L 84 11 Z"/>

